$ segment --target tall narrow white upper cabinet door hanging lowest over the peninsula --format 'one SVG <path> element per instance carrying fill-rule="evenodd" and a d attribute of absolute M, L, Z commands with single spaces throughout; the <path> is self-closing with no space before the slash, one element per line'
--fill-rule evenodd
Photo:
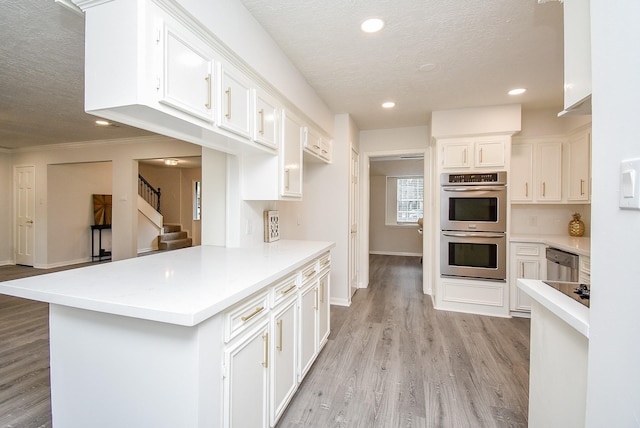
<path fill-rule="evenodd" d="M 302 123 L 289 112 L 282 113 L 280 153 L 282 196 L 302 197 Z"/>

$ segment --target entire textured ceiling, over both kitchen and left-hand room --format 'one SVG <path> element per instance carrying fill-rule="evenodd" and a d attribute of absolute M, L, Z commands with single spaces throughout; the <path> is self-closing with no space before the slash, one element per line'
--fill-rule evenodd
<path fill-rule="evenodd" d="M 562 109 L 558 2 L 240 1 L 331 110 L 362 130 L 424 125 L 452 108 Z M 359 30 L 370 16 L 385 19 L 380 33 Z M 0 1 L 0 148 L 148 134 L 98 127 L 84 113 L 83 26 L 53 0 Z M 525 95 L 506 95 L 520 86 Z M 383 111 L 386 100 L 397 107 Z"/>

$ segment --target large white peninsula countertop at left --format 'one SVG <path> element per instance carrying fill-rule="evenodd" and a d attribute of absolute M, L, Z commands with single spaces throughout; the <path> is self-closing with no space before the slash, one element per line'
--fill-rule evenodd
<path fill-rule="evenodd" d="M 0 282 L 0 293 L 193 326 L 334 246 L 290 240 L 250 248 L 198 246 Z"/>

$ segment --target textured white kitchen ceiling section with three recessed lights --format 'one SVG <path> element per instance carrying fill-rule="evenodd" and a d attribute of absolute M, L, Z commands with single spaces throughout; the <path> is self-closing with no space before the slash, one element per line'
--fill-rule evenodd
<path fill-rule="evenodd" d="M 562 110 L 558 2 L 241 2 L 331 110 L 351 113 L 362 130 L 422 125 L 431 111 L 453 108 L 522 103 Z M 385 28 L 363 33 L 368 17 L 383 18 Z M 528 92 L 510 97 L 514 87 Z M 396 108 L 383 111 L 386 100 Z"/>

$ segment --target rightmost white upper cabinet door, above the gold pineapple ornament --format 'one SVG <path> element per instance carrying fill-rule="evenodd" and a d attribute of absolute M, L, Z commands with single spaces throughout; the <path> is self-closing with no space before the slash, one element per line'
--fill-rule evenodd
<path fill-rule="evenodd" d="M 591 132 L 583 132 L 571 137 L 567 143 L 568 187 L 567 199 L 588 201 L 591 183 Z"/>

